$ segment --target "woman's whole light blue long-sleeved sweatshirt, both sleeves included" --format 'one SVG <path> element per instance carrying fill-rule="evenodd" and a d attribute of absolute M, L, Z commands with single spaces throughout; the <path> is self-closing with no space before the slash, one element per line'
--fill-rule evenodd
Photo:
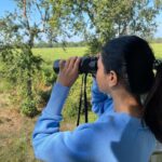
<path fill-rule="evenodd" d="M 110 96 L 92 86 L 92 110 L 98 114 L 94 123 L 73 131 L 59 132 L 62 109 L 69 87 L 56 82 L 51 98 L 39 117 L 32 146 L 37 159 L 46 162 L 148 162 L 156 139 L 141 120 L 116 112 Z"/>

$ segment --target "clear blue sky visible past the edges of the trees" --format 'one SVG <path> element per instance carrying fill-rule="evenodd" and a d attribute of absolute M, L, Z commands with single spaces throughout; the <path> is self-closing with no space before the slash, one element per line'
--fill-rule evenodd
<path fill-rule="evenodd" d="M 0 0 L 0 17 L 4 16 L 5 11 L 14 11 L 16 8 L 14 0 Z M 157 17 L 157 32 L 154 33 L 154 37 L 162 37 L 162 12 L 160 15 Z M 79 41 L 79 37 L 73 37 L 71 38 L 71 41 Z M 70 40 L 69 40 L 70 41 Z"/>

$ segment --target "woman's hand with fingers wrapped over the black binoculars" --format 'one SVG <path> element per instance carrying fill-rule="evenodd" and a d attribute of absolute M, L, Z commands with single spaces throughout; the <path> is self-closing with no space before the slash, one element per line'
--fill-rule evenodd
<path fill-rule="evenodd" d="M 79 76 L 80 59 L 80 57 L 70 57 L 66 62 L 60 60 L 57 82 L 70 87 Z"/>

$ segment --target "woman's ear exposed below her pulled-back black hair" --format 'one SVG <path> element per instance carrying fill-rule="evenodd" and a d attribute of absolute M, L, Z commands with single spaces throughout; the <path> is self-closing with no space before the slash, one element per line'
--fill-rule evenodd
<path fill-rule="evenodd" d="M 118 77 L 113 70 L 107 73 L 106 80 L 107 80 L 109 87 L 116 86 L 118 84 Z"/>

